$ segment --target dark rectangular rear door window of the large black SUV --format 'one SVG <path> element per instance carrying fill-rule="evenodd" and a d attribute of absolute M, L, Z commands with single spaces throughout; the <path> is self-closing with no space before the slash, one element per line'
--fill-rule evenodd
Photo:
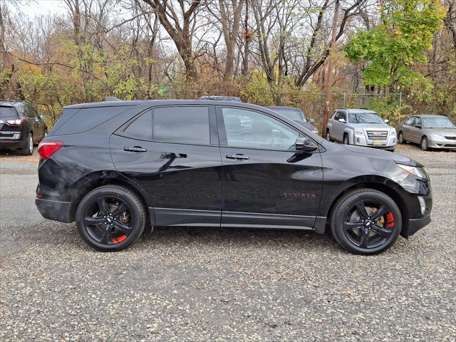
<path fill-rule="evenodd" d="M 208 145 L 209 108 L 165 107 L 154 110 L 153 139 L 163 142 L 182 142 Z"/>

